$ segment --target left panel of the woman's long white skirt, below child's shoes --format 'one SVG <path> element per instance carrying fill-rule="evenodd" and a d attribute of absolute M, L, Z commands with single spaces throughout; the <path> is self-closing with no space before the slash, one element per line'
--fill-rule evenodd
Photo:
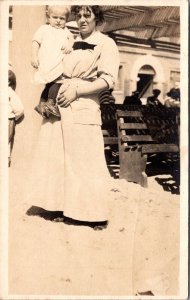
<path fill-rule="evenodd" d="M 25 191 L 27 206 L 63 210 L 64 149 L 60 121 L 43 121 L 33 153 Z"/>

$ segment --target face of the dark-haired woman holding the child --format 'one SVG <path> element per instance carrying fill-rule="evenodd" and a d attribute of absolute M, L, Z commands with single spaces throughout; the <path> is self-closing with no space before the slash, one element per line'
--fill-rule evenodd
<path fill-rule="evenodd" d="M 81 8 L 76 15 L 76 22 L 83 37 L 88 37 L 95 31 L 96 17 L 90 8 Z"/>

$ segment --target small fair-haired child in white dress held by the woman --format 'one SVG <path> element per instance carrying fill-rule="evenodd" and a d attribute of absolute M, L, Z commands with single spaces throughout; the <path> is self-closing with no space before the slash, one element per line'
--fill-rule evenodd
<path fill-rule="evenodd" d="M 49 6 L 49 24 L 40 26 L 32 40 L 31 64 L 37 69 L 34 79 L 46 84 L 35 110 L 45 118 L 50 114 L 60 117 L 56 97 L 61 84 L 57 80 L 63 73 L 62 59 L 74 43 L 73 34 L 65 27 L 69 13 L 67 6 Z"/>

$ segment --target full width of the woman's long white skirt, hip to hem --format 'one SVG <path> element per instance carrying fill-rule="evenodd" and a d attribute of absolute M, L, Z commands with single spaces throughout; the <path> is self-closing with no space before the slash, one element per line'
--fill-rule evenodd
<path fill-rule="evenodd" d="M 75 124 L 70 107 L 61 114 L 61 122 L 45 120 L 41 126 L 29 203 L 76 220 L 107 220 L 111 177 L 101 127 Z"/>

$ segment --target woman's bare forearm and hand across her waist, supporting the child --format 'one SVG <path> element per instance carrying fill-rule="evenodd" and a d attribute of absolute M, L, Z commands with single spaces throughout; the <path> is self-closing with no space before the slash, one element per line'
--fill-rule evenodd
<path fill-rule="evenodd" d="M 57 102 L 61 107 L 67 107 L 78 97 L 98 94 L 106 88 L 108 88 L 108 84 L 103 78 L 98 78 L 92 82 L 86 81 L 85 84 L 79 86 L 68 86 L 68 84 L 62 84 L 59 90 Z"/>

